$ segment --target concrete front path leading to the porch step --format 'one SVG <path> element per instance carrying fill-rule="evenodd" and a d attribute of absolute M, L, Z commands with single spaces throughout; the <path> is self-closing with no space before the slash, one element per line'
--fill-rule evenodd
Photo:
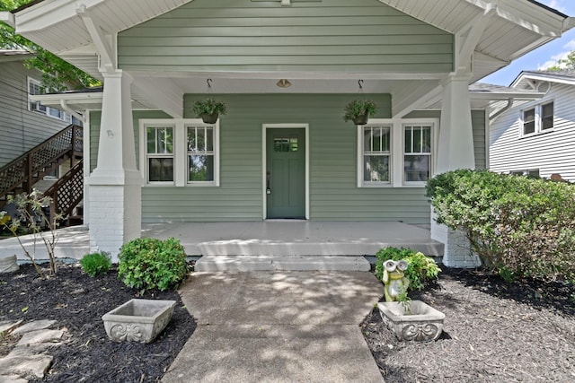
<path fill-rule="evenodd" d="M 383 382 L 358 326 L 382 295 L 371 273 L 194 273 L 198 327 L 162 381 Z"/>

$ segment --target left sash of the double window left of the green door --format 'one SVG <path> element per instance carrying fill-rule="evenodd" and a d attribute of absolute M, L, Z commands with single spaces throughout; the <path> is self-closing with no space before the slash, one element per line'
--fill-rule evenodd
<path fill-rule="evenodd" d="M 146 126 L 148 182 L 173 182 L 173 126 Z"/>

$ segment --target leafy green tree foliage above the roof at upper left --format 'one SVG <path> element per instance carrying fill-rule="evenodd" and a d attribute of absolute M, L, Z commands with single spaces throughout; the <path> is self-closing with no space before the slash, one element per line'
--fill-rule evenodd
<path fill-rule="evenodd" d="M 0 0 L 0 12 L 12 11 L 31 1 Z M 91 75 L 16 34 L 12 27 L 3 22 L 0 22 L 0 49 L 22 49 L 33 53 L 34 57 L 27 59 L 24 65 L 42 72 L 42 87 L 47 92 L 83 89 L 100 84 Z"/>

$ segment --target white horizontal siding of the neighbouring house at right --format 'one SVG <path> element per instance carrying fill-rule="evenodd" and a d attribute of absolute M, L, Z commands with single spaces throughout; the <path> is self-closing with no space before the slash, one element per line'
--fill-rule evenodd
<path fill-rule="evenodd" d="M 553 131 L 519 137 L 521 110 L 554 100 Z M 497 172 L 538 169 L 549 178 L 559 173 L 575 181 L 575 91 L 572 85 L 553 84 L 544 100 L 509 109 L 493 123 L 490 132 L 490 169 Z"/>

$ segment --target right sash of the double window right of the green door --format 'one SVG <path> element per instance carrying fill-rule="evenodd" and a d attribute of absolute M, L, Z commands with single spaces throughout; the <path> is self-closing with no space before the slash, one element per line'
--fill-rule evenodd
<path fill-rule="evenodd" d="M 431 174 L 431 126 L 403 126 L 403 181 L 426 182 Z"/>

